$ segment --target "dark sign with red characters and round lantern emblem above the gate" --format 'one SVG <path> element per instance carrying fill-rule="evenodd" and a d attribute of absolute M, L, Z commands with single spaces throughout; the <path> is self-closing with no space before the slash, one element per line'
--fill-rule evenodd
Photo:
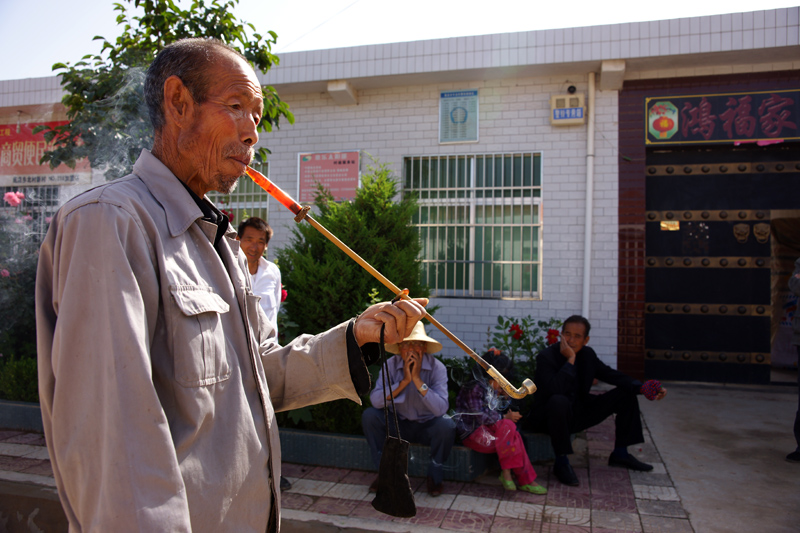
<path fill-rule="evenodd" d="M 645 99 L 646 144 L 800 139 L 800 90 Z"/>

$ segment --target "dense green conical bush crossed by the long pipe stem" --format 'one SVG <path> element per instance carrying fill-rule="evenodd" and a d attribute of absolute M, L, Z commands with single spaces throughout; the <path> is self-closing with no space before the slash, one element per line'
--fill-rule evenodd
<path fill-rule="evenodd" d="M 420 244 L 409 225 L 416 211 L 410 197 L 393 199 L 397 186 L 387 165 L 373 162 L 351 202 L 334 202 L 320 189 L 315 219 L 412 297 L 427 297 L 420 283 Z M 362 312 L 375 287 L 380 300 L 394 295 L 310 224 L 292 230 L 291 246 L 278 252 L 289 298 L 283 303 L 304 333 L 319 333 Z"/>

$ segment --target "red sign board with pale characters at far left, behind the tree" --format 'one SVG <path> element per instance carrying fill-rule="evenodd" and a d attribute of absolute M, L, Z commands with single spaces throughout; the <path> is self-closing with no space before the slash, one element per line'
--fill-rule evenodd
<path fill-rule="evenodd" d="M 0 186 L 67 185 L 90 183 L 91 169 L 87 160 L 75 168 L 59 165 L 40 165 L 39 159 L 51 146 L 44 132 L 33 133 L 37 126 L 61 126 L 67 121 L 20 124 L 0 124 Z"/>

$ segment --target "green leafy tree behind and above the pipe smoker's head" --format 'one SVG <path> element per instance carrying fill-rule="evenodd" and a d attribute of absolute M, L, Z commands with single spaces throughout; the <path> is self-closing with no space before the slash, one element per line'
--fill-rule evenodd
<path fill-rule="evenodd" d="M 123 0 L 115 3 L 117 24 L 122 34 L 114 42 L 103 41 L 99 55 L 86 55 L 74 65 L 56 63 L 61 85 L 66 91 L 62 103 L 69 124 L 56 128 L 39 127 L 54 148 L 45 152 L 41 163 L 55 168 L 88 157 L 94 168 L 104 168 L 113 179 L 127 174 L 142 148 L 153 142 L 153 130 L 143 98 L 144 70 L 155 54 L 166 45 L 186 37 L 215 37 L 236 48 L 256 71 L 268 71 L 278 64 L 271 53 L 277 35 L 262 35 L 255 26 L 233 16 L 239 0 L 194 0 L 181 9 L 173 0 Z M 127 4 L 127 6 L 126 6 Z M 138 14 L 129 13 L 130 6 Z M 259 129 L 271 131 L 284 117 L 294 117 L 273 87 L 263 87 L 264 117 Z M 268 150 L 256 154 L 263 161 Z"/>

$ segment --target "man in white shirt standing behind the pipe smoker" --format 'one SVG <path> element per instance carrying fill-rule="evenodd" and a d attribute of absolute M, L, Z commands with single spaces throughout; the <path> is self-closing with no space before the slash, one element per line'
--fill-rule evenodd
<path fill-rule="evenodd" d="M 250 217 L 239 224 L 236 240 L 241 243 L 242 251 L 247 257 L 247 270 L 253 294 L 261 297 L 261 309 L 267 315 L 270 325 L 278 337 L 278 309 L 281 306 L 281 271 L 278 265 L 264 259 L 269 241 L 272 239 L 272 228 L 264 219 Z M 289 490 L 292 484 L 281 476 L 281 490 Z"/>

